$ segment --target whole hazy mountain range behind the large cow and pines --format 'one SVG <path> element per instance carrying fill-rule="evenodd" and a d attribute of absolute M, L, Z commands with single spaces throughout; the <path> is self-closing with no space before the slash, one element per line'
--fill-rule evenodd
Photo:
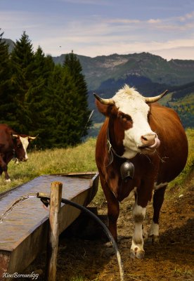
<path fill-rule="evenodd" d="M 7 41 L 8 40 L 8 41 Z M 13 41 L 6 39 L 13 48 Z M 89 108 L 94 110 L 93 130 L 103 122 L 96 111 L 93 92 L 105 98 L 112 97 L 124 84 L 134 86 L 143 96 L 156 96 L 168 89 L 161 103 L 173 107 L 185 127 L 194 126 L 194 60 L 165 60 L 151 53 L 128 55 L 101 55 L 91 58 L 77 55 L 89 89 Z M 65 54 L 53 57 L 54 63 L 63 64 Z M 92 131 L 92 129 L 91 129 Z"/>

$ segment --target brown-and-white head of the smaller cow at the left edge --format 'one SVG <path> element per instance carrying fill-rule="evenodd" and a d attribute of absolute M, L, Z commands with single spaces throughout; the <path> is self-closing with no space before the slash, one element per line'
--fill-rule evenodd
<path fill-rule="evenodd" d="M 12 134 L 15 158 L 17 158 L 19 161 L 27 161 L 27 146 L 29 145 L 30 141 L 33 141 L 35 138 L 37 137 Z"/>

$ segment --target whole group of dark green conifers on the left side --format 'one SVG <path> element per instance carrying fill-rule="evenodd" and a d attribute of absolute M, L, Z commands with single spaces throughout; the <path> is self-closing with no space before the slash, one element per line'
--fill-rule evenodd
<path fill-rule="evenodd" d="M 0 34 L 0 123 L 37 136 L 39 149 L 80 143 L 89 127 L 87 86 L 72 52 L 55 65 L 22 33 L 11 53 Z"/>

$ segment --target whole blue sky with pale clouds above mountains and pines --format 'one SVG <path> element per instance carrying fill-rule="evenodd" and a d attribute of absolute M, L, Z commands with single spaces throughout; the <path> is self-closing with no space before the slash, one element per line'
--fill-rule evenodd
<path fill-rule="evenodd" d="M 194 60 L 193 0 L 0 0 L 4 38 L 96 57 L 149 52 Z"/>

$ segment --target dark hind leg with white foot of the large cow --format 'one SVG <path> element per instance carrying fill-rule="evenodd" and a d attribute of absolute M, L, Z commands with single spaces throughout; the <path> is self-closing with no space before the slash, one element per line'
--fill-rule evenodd
<path fill-rule="evenodd" d="M 158 242 L 159 240 L 159 217 L 160 217 L 160 209 L 164 202 L 164 193 L 167 188 L 167 185 L 162 186 L 155 190 L 153 195 L 153 222 L 150 226 L 149 231 L 149 240 L 152 242 Z"/>

